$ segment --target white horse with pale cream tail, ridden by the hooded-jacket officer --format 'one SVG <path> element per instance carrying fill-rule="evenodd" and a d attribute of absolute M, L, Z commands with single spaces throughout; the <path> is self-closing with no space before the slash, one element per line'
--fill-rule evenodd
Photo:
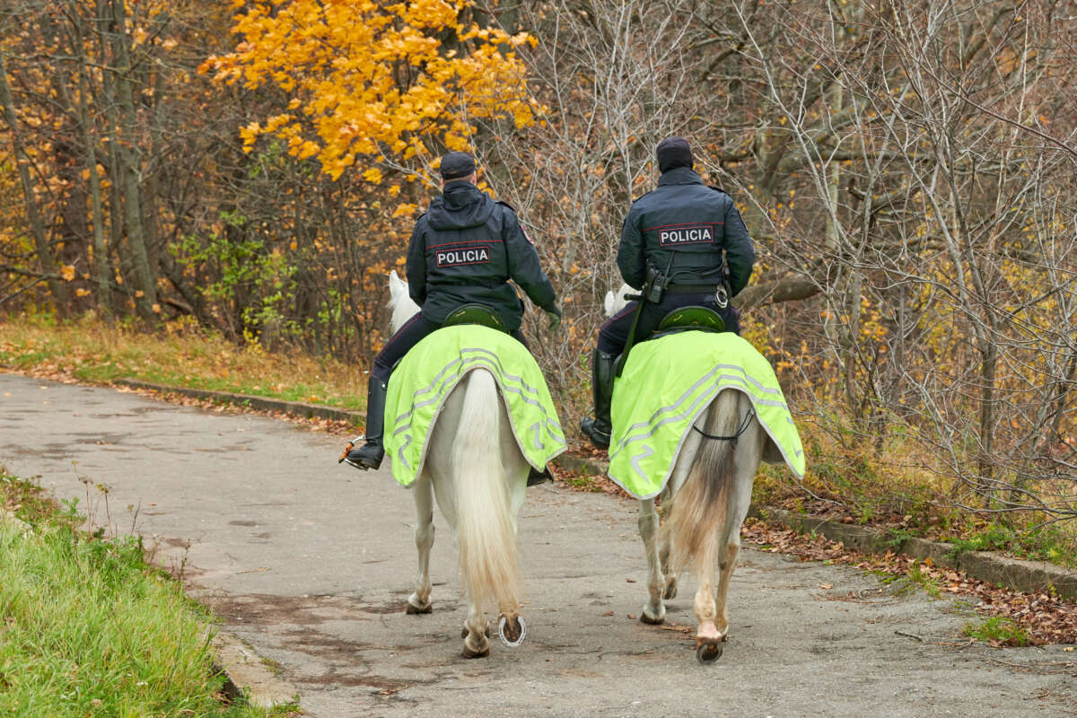
<path fill-rule="evenodd" d="M 389 291 L 392 328 L 396 332 L 419 307 L 395 271 L 390 274 Z M 527 635 L 519 613 L 522 578 L 516 522 L 530 465 L 516 444 L 498 391 L 493 375 L 484 368 L 473 369 L 453 388 L 430 434 L 422 473 L 411 485 L 418 515 L 415 544 L 419 549 L 419 575 L 406 610 L 432 610 L 430 550 L 434 545 L 436 496 L 459 547 L 467 601 L 467 618 L 460 635 L 467 658 L 490 654 L 484 602 L 496 603 L 498 629 L 505 645 L 519 646 Z"/>

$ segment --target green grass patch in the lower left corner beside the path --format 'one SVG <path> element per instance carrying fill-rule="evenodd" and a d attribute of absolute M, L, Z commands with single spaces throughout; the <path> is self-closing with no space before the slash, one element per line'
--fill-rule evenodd
<path fill-rule="evenodd" d="M 140 538 L 81 532 L 2 469 L 0 497 L 0 715 L 288 715 L 223 700 L 212 617 Z"/>

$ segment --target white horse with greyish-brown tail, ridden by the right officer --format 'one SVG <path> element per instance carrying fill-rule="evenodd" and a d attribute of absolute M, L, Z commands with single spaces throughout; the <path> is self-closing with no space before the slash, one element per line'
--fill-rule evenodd
<path fill-rule="evenodd" d="M 625 294 L 631 292 L 626 284 L 617 294 L 606 293 L 606 314 L 620 311 L 627 304 Z M 671 356 L 670 362 L 675 364 L 676 357 Z M 737 439 L 714 438 L 732 436 Z M 751 399 L 737 390 L 723 390 L 696 420 L 669 481 L 657 496 L 666 516 L 660 536 L 655 497 L 640 501 L 640 536 L 649 569 L 649 599 L 640 620 L 652 624 L 665 621 L 663 599 L 676 596 L 677 576 L 691 568 L 698 580 L 696 657 L 702 663 L 722 656 L 722 644 L 729 635 L 726 594 L 759 462 L 783 461 L 767 439 Z"/>

